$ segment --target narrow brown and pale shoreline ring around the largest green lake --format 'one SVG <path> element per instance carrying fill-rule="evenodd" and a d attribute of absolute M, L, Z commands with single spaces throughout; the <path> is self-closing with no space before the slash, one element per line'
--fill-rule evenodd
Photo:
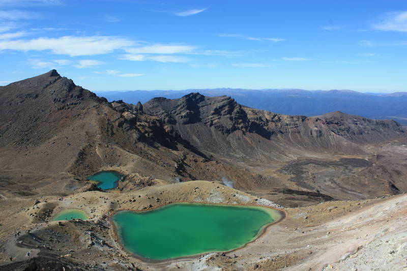
<path fill-rule="evenodd" d="M 121 239 L 119 237 L 117 226 L 116 226 L 116 224 L 114 223 L 114 220 L 113 220 L 113 216 L 115 214 L 117 214 L 119 212 L 122 212 L 122 211 L 131 211 L 131 212 L 135 212 L 135 213 L 146 213 L 146 212 L 150 212 L 151 210 L 164 207 L 166 205 L 183 204 L 183 203 L 185 203 L 185 204 L 188 204 L 188 203 L 189 204 L 202 204 L 202 205 L 220 205 L 220 206 L 223 205 L 223 206 L 235 206 L 235 207 L 239 207 L 239 206 L 263 207 L 263 208 L 266 208 L 265 212 L 267 212 L 270 216 L 272 216 L 272 214 L 273 215 L 278 214 L 279 217 L 276 220 L 274 220 L 273 222 L 268 223 L 268 224 L 264 225 L 263 227 L 261 227 L 258 230 L 257 235 L 253 238 L 253 240 L 251 240 L 250 242 L 247 242 L 246 244 L 244 244 L 241 247 L 238 247 L 238 248 L 232 249 L 232 250 L 228 250 L 228 251 L 210 251 L 210 252 L 203 252 L 203 253 L 198 253 L 198 254 L 194 254 L 194 255 L 188 255 L 188 256 L 182 256 L 182 257 L 176 257 L 176 258 L 168 258 L 168 259 L 157 260 L 157 259 L 150 259 L 150 258 L 142 257 L 140 255 L 137 255 L 137 254 L 135 254 L 133 252 L 128 251 L 124 247 L 124 245 L 122 244 Z M 267 210 L 267 209 L 269 209 L 269 210 Z M 117 210 L 114 210 L 113 214 L 111 214 L 108 219 L 109 219 L 109 223 L 111 225 L 113 225 L 113 234 L 114 234 L 114 238 L 115 238 L 114 242 L 120 247 L 121 250 L 125 251 L 129 256 L 137 258 L 137 259 L 139 259 L 139 260 L 141 260 L 143 262 L 162 263 L 162 262 L 171 262 L 171 261 L 180 260 L 180 259 L 194 259 L 197 256 L 202 256 L 202 255 L 209 254 L 209 253 L 230 253 L 230 252 L 234 252 L 234 251 L 243 249 L 247 245 L 255 242 L 258 238 L 260 238 L 263 234 L 265 234 L 271 226 L 281 222 L 284 218 L 286 218 L 286 216 L 287 216 L 287 214 L 283 209 L 279 209 L 279 208 L 271 207 L 271 206 L 265 206 L 265 205 L 180 201 L 180 202 L 171 202 L 171 203 L 161 204 L 161 205 L 157 205 L 157 206 L 154 206 L 154 207 L 151 207 L 151 208 L 148 208 L 148 209 L 143 209 L 143 210 L 117 209 Z"/>

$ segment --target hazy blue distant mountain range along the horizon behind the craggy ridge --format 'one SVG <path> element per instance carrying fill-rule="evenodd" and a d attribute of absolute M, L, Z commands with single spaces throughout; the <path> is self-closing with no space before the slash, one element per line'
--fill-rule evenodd
<path fill-rule="evenodd" d="M 407 124 L 407 92 L 391 94 L 360 93 L 349 90 L 305 91 L 303 89 L 186 89 L 184 91 L 111 91 L 97 92 L 108 101 L 146 103 L 155 97 L 178 99 L 189 93 L 205 96 L 230 96 L 238 103 L 287 115 L 315 116 L 342 111 L 374 119 L 394 119 Z"/>

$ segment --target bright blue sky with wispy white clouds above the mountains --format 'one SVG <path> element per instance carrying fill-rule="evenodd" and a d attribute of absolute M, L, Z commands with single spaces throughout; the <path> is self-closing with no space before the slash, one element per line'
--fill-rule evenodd
<path fill-rule="evenodd" d="M 407 0 L 0 0 L 0 85 L 407 91 Z"/>

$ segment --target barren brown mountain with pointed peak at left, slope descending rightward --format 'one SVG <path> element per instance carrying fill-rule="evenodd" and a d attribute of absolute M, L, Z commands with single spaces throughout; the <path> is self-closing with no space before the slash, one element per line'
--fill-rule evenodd
<path fill-rule="evenodd" d="M 211 161 L 158 117 L 110 104 L 55 70 L 0 87 L 0 118 L 2 194 L 70 194 L 102 169 L 130 176 L 123 189 L 153 178 L 220 181 L 227 172 L 250 187 L 255 178 Z"/>

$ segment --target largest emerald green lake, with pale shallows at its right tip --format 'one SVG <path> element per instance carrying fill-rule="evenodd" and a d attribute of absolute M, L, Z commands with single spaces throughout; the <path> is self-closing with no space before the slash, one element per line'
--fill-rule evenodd
<path fill-rule="evenodd" d="M 260 206 L 172 203 L 147 212 L 122 210 L 112 221 L 126 250 L 164 260 L 237 249 L 280 218 Z"/>

